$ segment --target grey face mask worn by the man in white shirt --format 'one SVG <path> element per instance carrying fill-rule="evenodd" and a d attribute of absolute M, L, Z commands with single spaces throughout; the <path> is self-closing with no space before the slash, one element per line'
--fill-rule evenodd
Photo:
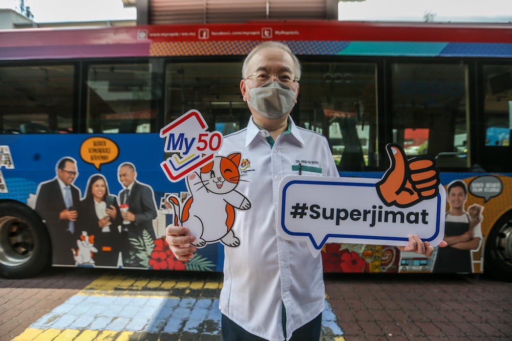
<path fill-rule="evenodd" d="M 295 92 L 281 82 L 266 82 L 249 89 L 249 104 L 268 120 L 277 120 L 295 105 Z"/>

